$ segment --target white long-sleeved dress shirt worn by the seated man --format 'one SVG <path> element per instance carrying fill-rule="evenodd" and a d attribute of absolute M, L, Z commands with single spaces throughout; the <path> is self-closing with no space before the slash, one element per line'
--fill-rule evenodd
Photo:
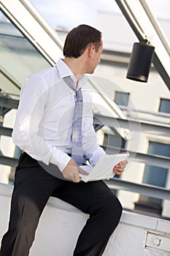
<path fill-rule="evenodd" d="M 59 59 L 55 67 L 50 67 L 28 78 L 20 91 L 20 103 L 12 132 L 14 143 L 31 157 L 53 163 L 62 171 L 68 164 L 72 152 L 72 119 L 75 92 L 69 89 L 62 78 L 72 76 L 69 67 Z M 87 83 L 82 76 L 78 88 Z M 105 154 L 98 146 L 93 129 L 93 111 L 90 94 L 82 89 L 82 148 L 91 165 Z"/>

